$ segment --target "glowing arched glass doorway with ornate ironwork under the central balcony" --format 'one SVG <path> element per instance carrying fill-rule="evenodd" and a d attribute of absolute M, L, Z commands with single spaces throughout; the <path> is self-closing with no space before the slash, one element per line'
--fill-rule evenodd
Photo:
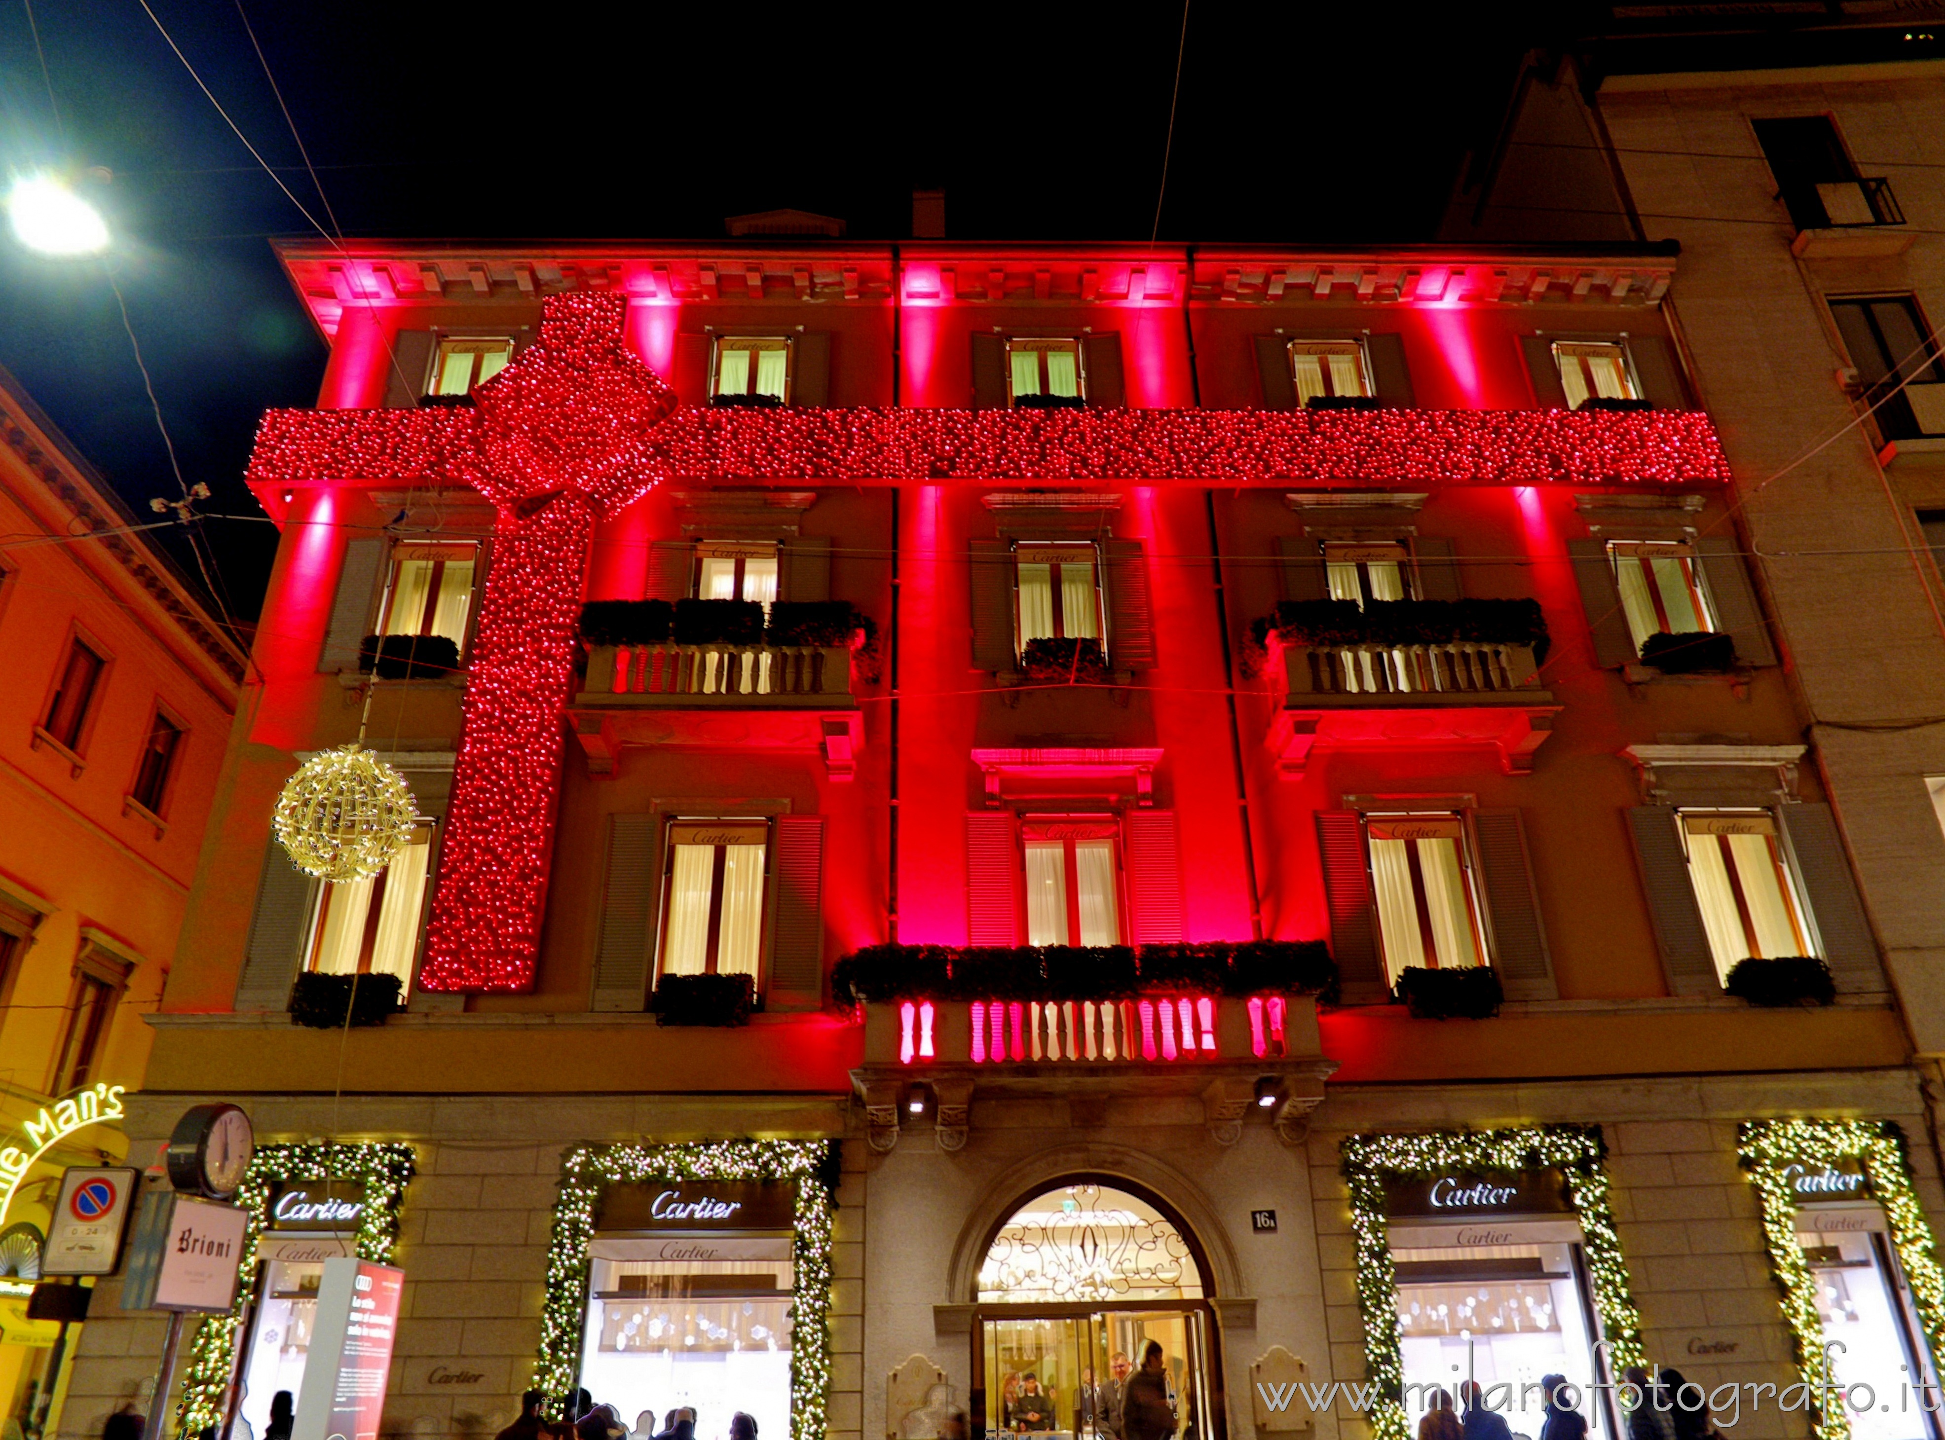
<path fill-rule="evenodd" d="M 1208 1259 L 1124 1179 L 1076 1175 L 994 1228 L 978 1267 L 972 1434 L 1118 1440 L 1126 1382 L 1161 1345 L 1181 1440 L 1221 1440 Z"/>

